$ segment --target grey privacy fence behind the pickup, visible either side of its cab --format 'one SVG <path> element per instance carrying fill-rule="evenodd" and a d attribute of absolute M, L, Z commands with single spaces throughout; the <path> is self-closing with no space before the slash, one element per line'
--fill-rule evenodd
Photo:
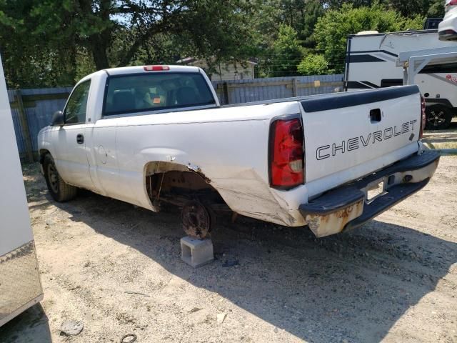
<path fill-rule="evenodd" d="M 276 77 L 237 81 L 213 81 L 221 104 L 332 93 L 343 87 L 343 75 Z M 51 122 L 55 111 L 64 109 L 71 88 L 8 91 L 21 159 L 37 159 L 38 132 Z"/>

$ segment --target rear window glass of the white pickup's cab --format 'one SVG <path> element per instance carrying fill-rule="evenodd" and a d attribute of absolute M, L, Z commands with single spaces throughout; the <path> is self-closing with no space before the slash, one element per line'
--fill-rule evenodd
<path fill-rule="evenodd" d="M 111 76 L 106 83 L 105 116 L 216 104 L 199 73 Z"/>

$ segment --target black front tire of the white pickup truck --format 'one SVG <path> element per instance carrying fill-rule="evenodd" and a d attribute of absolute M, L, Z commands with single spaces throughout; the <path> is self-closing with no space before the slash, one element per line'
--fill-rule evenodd
<path fill-rule="evenodd" d="M 57 172 L 56 164 L 50 154 L 44 156 L 43 169 L 49 193 L 56 202 L 68 202 L 76 197 L 78 189 L 64 182 Z"/>

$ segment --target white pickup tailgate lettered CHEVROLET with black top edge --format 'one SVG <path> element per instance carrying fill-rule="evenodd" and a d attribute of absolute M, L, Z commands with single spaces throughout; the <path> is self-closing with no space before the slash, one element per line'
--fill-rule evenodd
<path fill-rule="evenodd" d="M 418 151 L 418 86 L 333 94 L 301 105 L 309 197 Z"/>

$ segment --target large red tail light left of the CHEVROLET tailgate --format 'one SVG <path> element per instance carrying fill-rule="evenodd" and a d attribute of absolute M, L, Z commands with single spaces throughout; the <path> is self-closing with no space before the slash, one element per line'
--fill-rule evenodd
<path fill-rule="evenodd" d="M 277 119 L 270 127 L 270 186 L 291 189 L 305 182 L 301 119 Z"/>

